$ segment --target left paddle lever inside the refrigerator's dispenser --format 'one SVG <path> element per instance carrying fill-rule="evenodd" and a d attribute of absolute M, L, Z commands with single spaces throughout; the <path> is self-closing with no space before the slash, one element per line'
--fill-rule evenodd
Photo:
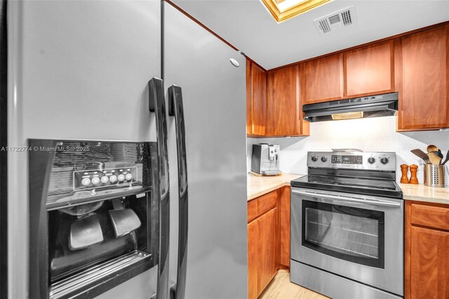
<path fill-rule="evenodd" d="M 103 241 L 103 232 L 98 216 L 88 215 L 70 225 L 69 248 L 78 250 Z"/>

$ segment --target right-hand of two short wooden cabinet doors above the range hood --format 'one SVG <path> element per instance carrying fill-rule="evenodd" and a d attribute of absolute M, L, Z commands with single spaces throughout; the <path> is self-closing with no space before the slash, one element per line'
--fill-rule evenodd
<path fill-rule="evenodd" d="M 344 53 L 344 97 L 394 92 L 394 41 Z"/>

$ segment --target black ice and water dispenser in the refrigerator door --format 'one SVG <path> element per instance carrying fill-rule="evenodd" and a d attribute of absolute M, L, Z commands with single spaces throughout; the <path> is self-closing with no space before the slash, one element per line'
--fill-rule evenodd
<path fill-rule="evenodd" d="M 156 142 L 29 146 L 34 295 L 91 298 L 157 264 Z"/>

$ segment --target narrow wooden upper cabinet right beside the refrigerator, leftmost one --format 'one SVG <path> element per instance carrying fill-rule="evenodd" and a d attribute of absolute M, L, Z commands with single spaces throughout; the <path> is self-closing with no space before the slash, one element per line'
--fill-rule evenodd
<path fill-rule="evenodd" d="M 246 60 L 246 133 L 266 135 L 267 72 Z"/>

